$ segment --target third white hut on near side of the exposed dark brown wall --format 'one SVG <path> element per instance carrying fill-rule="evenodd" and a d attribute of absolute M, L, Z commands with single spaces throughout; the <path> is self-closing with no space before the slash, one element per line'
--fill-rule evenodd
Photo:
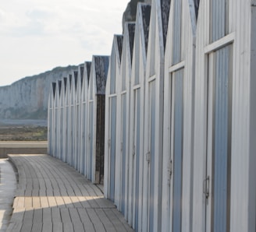
<path fill-rule="evenodd" d="M 129 207 L 128 223 L 141 231 L 143 196 L 144 146 L 144 79 L 147 63 L 148 33 L 151 5 L 139 3 L 133 45 L 133 63 L 130 80 L 129 139 Z M 125 167 L 123 167 L 125 168 Z M 123 204 L 125 202 L 123 201 Z"/>

